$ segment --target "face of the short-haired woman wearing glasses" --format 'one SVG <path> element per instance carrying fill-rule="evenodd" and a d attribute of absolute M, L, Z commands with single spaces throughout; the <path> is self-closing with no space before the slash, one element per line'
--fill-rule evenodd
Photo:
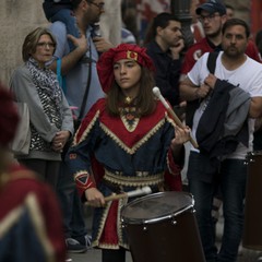
<path fill-rule="evenodd" d="M 51 60 L 55 47 L 56 45 L 49 35 L 41 35 L 32 57 L 39 63 L 39 67 L 45 67 L 45 63 Z"/>

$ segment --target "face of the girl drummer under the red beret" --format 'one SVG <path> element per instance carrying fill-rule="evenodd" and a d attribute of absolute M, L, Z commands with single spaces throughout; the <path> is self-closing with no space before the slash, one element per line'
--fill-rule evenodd
<path fill-rule="evenodd" d="M 127 96 L 135 97 L 140 90 L 141 67 L 131 59 L 121 59 L 114 64 L 117 84 Z"/>

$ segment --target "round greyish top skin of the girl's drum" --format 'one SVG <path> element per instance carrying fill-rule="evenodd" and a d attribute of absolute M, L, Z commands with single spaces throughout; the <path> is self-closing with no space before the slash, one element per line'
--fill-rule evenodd
<path fill-rule="evenodd" d="M 122 219 L 131 224 L 177 214 L 193 206 L 192 195 L 184 192 L 159 192 L 131 201 L 122 207 Z"/>

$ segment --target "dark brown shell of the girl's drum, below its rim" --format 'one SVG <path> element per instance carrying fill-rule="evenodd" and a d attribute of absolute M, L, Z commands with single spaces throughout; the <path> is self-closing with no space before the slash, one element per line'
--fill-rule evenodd
<path fill-rule="evenodd" d="M 133 262 L 205 261 L 193 209 L 174 215 L 148 224 L 124 223 Z"/>

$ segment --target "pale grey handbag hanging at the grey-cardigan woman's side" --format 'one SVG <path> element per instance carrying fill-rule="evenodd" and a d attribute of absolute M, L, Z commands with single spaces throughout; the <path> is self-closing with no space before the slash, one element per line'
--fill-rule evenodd
<path fill-rule="evenodd" d="M 31 145 L 29 109 L 26 103 L 17 102 L 16 106 L 20 122 L 10 150 L 14 155 L 28 155 Z"/>

